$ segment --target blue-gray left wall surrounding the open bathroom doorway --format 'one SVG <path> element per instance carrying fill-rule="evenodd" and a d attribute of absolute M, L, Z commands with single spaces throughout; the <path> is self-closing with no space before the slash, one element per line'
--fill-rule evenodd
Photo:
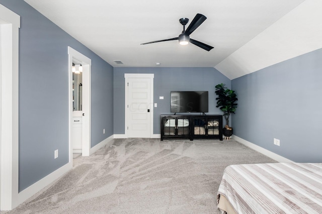
<path fill-rule="evenodd" d="M 92 59 L 92 146 L 113 135 L 113 67 L 22 0 L 0 0 L 19 30 L 19 191 L 68 163 L 67 47 Z M 103 135 L 103 129 L 106 134 Z M 54 150 L 59 157 L 54 159 Z"/>

